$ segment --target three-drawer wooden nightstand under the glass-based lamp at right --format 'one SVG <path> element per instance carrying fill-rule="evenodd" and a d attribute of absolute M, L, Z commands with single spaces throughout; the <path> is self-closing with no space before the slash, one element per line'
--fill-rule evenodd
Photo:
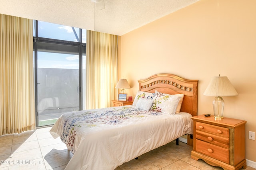
<path fill-rule="evenodd" d="M 214 115 L 192 117 L 194 143 L 191 158 L 225 170 L 246 168 L 244 120 L 214 120 Z"/>

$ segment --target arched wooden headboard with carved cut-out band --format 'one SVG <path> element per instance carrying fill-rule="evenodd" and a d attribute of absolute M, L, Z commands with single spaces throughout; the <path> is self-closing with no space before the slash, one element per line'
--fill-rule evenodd
<path fill-rule="evenodd" d="M 187 80 L 173 74 L 155 74 L 138 80 L 140 91 L 154 93 L 155 90 L 166 94 L 184 94 L 180 111 L 197 115 L 198 80 Z"/>

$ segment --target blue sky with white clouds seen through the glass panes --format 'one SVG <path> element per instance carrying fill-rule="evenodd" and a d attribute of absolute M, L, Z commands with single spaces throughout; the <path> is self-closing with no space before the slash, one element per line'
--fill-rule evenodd
<path fill-rule="evenodd" d="M 74 28 L 79 36 L 79 28 Z M 61 39 L 78 42 L 72 27 L 38 21 L 38 36 L 44 38 Z M 86 43 L 86 30 L 82 29 L 82 42 Z M 38 68 L 68 68 L 78 69 L 78 55 L 38 52 Z M 85 56 L 83 56 L 85 68 Z"/>

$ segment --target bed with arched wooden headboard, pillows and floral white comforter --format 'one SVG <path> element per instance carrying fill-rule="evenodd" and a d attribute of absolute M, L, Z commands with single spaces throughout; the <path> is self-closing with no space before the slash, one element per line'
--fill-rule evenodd
<path fill-rule="evenodd" d="M 113 170 L 178 137 L 193 133 L 191 117 L 197 115 L 198 80 L 155 74 L 138 82 L 139 90 L 133 105 L 69 112 L 58 118 L 50 133 L 54 138 L 60 137 L 73 153 L 66 170 Z M 151 100 L 139 94 L 148 94 L 153 101 L 159 96 L 169 96 L 176 103 L 178 101 L 177 107 L 181 97 L 176 96 L 182 94 L 183 100 L 179 112 L 176 108 L 174 114 L 166 114 L 166 108 L 158 107 L 160 105 L 152 109 L 155 103 L 150 110 L 145 110 L 144 102 Z"/>

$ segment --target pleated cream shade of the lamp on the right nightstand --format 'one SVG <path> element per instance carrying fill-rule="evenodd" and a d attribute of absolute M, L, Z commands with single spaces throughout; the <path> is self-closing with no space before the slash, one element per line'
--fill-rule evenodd
<path fill-rule="evenodd" d="M 228 77 L 213 77 L 208 84 L 204 95 L 206 96 L 236 96 L 236 89 L 228 80 Z"/>

